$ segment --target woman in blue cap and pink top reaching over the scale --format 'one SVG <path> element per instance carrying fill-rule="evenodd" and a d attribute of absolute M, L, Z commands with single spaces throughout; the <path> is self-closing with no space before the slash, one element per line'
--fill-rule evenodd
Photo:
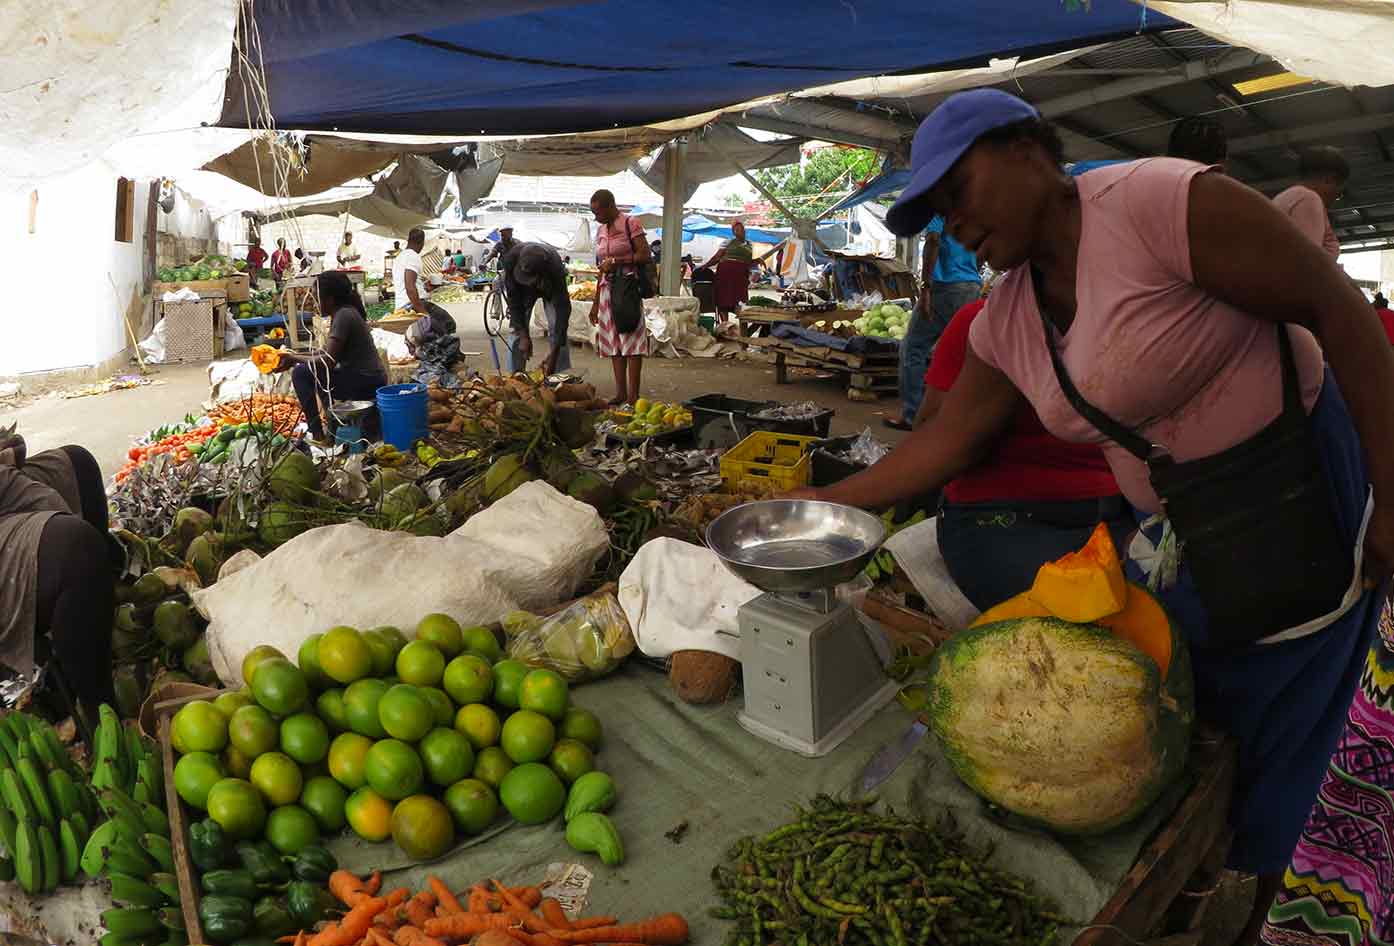
<path fill-rule="evenodd" d="M 995 89 L 951 96 L 920 125 L 912 183 L 888 226 L 907 235 L 941 213 L 980 262 L 1009 272 L 974 322 L 963 371 L 933 422 L 814 495 L 877 506 L 938 488 L 984 456 L 1025 398 L 1055 436 L 1104 450 L 1143 520 L 1161 511 L 1154 483 L 1167 482 L 1144 463 L 1146 449 L 1160 446 L 1188 468 L 1234 457 L 1238 444 L 1295 419 L 1309 437 L 1302 456 L 1315 465 L 1319 454 L 1323 471 L 1322 493 L 1306 506 L 1327 518 L 1328 553 L 1317 564 L 1344 574 L 1345 596 L 1328 599 L 1316 620 L 1264 624 L 1223 645 L 1232 628 L 1209 620 L 1221 600 L 1202 600 L 1204 556 L 1185 546 L 1161 596 L 1190 642 L 1199 715 L 1239 743 L 1228 861 L 1262 881 L 1245 940 L 1257 940 L 1289 864 L 1266 933 L 1274 942 L 1351 943 L 1334 933 L 1352 915 L 1373 917 L 1365 935 L 1388 940 L 1391 832 L 1359 851 L 1345 843 L 1342 854 L 1341 839 L 1358 830 L 1341 819 L 1394 790 L 1394 649 L 1370 646 L 1394 573 L 1394 354 L 1331 258 L 1256 191 L 1167 157 L 1071 180 L 1061 150 L 1032 106 Z M 1242 506 L 1239 497 L 1206 518 Z M 1179 504 L 1168 514 L 1181 522 Z M 1151 522 L 1143 532 L 1160 538 Z M 1302 538 L 1284 542 L 1262 549 L 1270 561 L 1309 560 Z M 1143 573 L 1129 563 L 1129 574 Z M 1372 684 L 1351 709 L 1359 726 L 1345 729 L 1366 666 Z M 1374 787 L 1351 801 L 1337 783 L 1348 784 L 1342 773 L 1369 757 L 1383 762 L 1358 777 Z M 1363 903 L 1342 901 L 1323 928 L 1312 920 L 1326 915 L 1315 897 L 1342 879 Z"/>

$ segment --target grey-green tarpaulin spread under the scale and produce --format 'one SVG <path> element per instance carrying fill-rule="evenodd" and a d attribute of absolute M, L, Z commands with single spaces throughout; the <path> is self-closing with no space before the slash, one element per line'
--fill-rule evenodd
<path fill-rule="evenodd" d="M 456 889 L 489 876 L 537 883 L 548 864 L 579 861 L 595 872 L 591 913 L 637 921 L 679 911 L 691 925 L 694 945 L 715 946 L 728 924 L 707 915 L 714 906 L 710 874 L 732 842 L 788 822 L 795 804 L 820 791 L 850 794 L 877 750 L 910 723 L 892 704 L 829 755 L 806 759 L 743 730 L 736 722 L 739 697 L 723 706 L 689 706 L 672 694 L 666 676 L 634 660 L 572 692 L 574 704 L 599 716 L 605 727 L 595 761 L 619 787 L 619 802 L 609 815 L 625 842 L 623 865 L 608 868 L 572 851 L 560 818 L 537 826 L 502 821 L 506 828 L 471 839 L 429 864 L 410 864 L 390 842 L 367 844 L 343 837 L 330 846 L 340 864 L 353 871 L 390 871 L 383 878 L 385 890 L 415 890 L 428 874 Z M 1064 915 L 1087 921 L 1112 896 L 1146 839 L 1175 807 L 1181 789 L 1125 829 L 1061 843 L 986 818 L 977 796 L 958 780 L 931 736 L 878 794 L 901 812 L 931 819 L 952 814 L 969 840 L 994 848 L 995 865 L 1051 894 Z M 680 822 L 687 822 L 687 830 L 675 844 L 664 833 Z M 1069 938 L 1062 935 L 1061 942 Z"/>

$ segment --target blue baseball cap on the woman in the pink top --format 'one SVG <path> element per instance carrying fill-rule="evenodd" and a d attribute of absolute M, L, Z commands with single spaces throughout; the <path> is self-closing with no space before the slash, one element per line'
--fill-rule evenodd
<path fill-rule="evenodd" d="M 1026 118 L 1040 118 L 1040 113 L 998 89 L 969 89 L 944 99 L 914 132 L 910 183 L 885 215 L 891 233 L 910 237 L 924 230 L 934 219 L 926 196 L 953 167 L 953 162 L 984 132 Z"/>

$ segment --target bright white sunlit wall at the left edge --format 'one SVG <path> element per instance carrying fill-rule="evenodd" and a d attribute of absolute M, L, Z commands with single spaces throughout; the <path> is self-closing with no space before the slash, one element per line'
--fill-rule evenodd
<path fill-rule="evenodd" d="M 117 174 L 102 162 L 46 178 L 38 188 L 33 231 L 29 192 L 0 195 L 0 259 L 10 273 L 0 308 L 0 376 L 95 368 L 130 347 L 125 319 L 146 323 L 144 290 L 149 181 L 137 181 L 131 242 L 116 240 Z M 158 227 L 180 235 L 230 240 L 236 217 L 213 220 L 180 194 L 158 212 Z"/>

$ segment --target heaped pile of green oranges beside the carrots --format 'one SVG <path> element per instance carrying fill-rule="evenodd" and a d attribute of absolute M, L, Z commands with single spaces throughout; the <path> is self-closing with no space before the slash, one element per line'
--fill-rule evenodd
<path fill-rule="evenodd" d="M 502 658 L 493 633 L 429 614 L 393 627 L 335 627 L 293 663 L 272 646 L 243 660 L 247 687 L 185 705 L 171 740 L 174 786 L 233 839 L 291 855 L 347 825 L 418 860 L 502 808 L 555 818 L 594 769 L 599 720 L 566 681 Z"/>

